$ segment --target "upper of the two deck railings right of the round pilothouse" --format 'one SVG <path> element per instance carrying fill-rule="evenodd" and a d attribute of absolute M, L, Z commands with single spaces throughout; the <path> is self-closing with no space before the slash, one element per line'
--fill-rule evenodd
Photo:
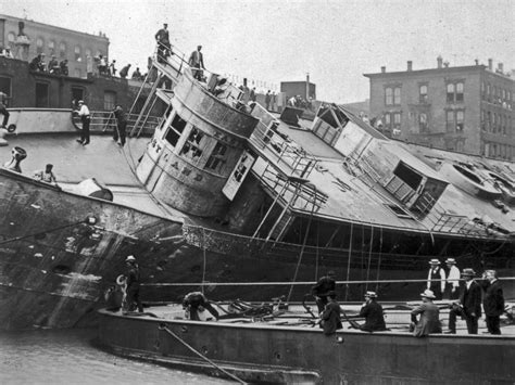
<path fill-rule="evenodd" d="M 273 127 L 273 124 L 258 123 L 249 141 L 258 149 L 267 150 L 268 162 L 286 166 L 291 175 L 307 178 L 316 166 L 316 158 L 296 142 L 282 138 Z"/>

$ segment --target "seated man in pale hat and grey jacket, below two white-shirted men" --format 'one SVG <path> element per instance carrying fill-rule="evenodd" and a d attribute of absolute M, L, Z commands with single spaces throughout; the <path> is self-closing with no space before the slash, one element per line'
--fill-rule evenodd
<path fill-rule="evenodd" d="M 422 305 L 412 311 L 412 324 L 410 331 L 413 331 L 415 337 L 424 337 L 432 333 L 441 333 L 440 310 L 432 300 L 436 298 L 435 293 L 430 290 L 420 293 Z M 417 321 L 416 316 L 420 315 Z"/>

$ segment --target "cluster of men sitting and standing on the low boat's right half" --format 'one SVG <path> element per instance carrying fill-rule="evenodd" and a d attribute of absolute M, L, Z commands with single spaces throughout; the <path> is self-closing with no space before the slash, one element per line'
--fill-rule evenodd
<path fill-rule="evenodd" d="M 445 262 L 449 267 L 449 278 L 441 274 L 441 268 L 437 259 L 431 259 L 431 269 L 429 271 L 428 288 L 420 293 L 422 304 L 411 312 L 410 331 L 414 336 L 423 337 L 432 333 L 442 333 L 440 322 L 440 308 L 434 303 L 438 293 L 443 293 L 447 288 L 453 300 L 449 312 L 449 329 L 445 333 L 456 333 L 456 318 L 465 320 L 468 334 L 478 333 L 478 320 L 481 317 L 481 303 L 485 311 L 485 320 L 488 333 L 493 335 L 501 334 L 500 317 L 504 312 L 504 297 L 501 283 L 498 280 L 495 270 L 487 270 L 482 274 L 482 280 L 476 282 L 476 272 L 470 269 L 464 269 L 460 273 L 456 261 L 449 258 Z M 457 270 L 457 271 L 456 271 Z M 437 281 L 437 278 L 438 280 Z M 460 279 L 464 284 L 460 285 Z M 438 285 L 437 285 L 438 283 Z M 441 285 L 443 283 L 443 286 Z M 341 329 L 342 310 L 336 301 L 336 281 L 335 272 L 329 271 L 312 287 L 312 294 L 315 297 L 321 318 L 321 326 L 327 335 L 334 334 L 336 330 Z M 365 304 L 362 306 L 359 318 L 364 318 L 365 323 L 360 325 L 350 321 L 351 325 L 366 332 L 376 332 L 387 330 L 382 307 L 377 303 L 375 292 L 365 293 Z M 349 318 L 346 316 L 346 318 Z"/>

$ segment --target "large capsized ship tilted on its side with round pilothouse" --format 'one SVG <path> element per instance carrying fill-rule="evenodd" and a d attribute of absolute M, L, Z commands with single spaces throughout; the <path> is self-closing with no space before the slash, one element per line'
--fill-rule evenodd
<path fill-rule="evenodd" d="M 410 299 L 423 283 L 369 282 L 425 279 L 434 257 L 514 275 L 513 163 L 392 141 L 336 104 L 313 123 L 279 117 L 215 74 L 202 79 L 176 49 L 152 65 L 125 149 L 101 134 L 75 143 L 70 111 L 12 111 L 0 155 L 15 145 L 24 169 L 53 163 L 60 183 L 0 170 L 2 328 L 88 324 L 129 254 L 154 300 L 199 284 L 217 299 L 294 300 L 306 284 L 276 283 L 327 269 L 361 282 L 339 287 L 347 300 L 372 287 Z"/>

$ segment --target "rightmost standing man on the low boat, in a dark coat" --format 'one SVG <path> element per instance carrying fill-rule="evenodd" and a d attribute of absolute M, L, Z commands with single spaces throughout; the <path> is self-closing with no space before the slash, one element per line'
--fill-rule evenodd
<path fill-rule="evenodd" d="M 482 278 L 486 280 L 481 283 L 481 286 L 485 291 L 482 307 L 485 309 L 487 328 L 490 334 L 501 334 L 500 316 L 504 312 L 502 286 L 495 270 L 485 271 Z"/>

